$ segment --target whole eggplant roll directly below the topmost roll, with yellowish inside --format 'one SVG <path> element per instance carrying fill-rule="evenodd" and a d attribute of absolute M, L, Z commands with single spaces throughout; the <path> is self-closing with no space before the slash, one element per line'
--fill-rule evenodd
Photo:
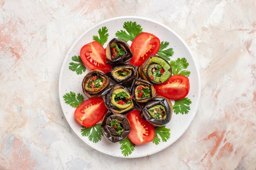
<path fill-rule="evenodd" d="M 108 75 L 116 83 L 123 86 L 130 86 L 133 79 L 139 77 L 136 67 L 130 64 L 116 65 L 111 69 L 111 72 L 108 73 Z"/>

